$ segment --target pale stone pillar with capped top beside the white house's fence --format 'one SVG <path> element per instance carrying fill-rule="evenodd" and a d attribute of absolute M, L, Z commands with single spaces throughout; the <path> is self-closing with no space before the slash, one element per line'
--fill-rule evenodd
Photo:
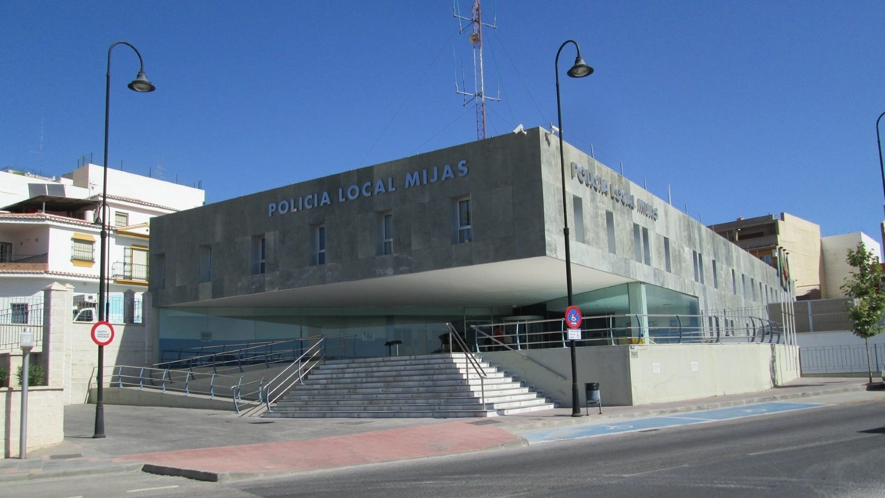
<path fill-rule="evenodd" d="M 54 282 L 43 289 L 43 352 L 46 385 L 65 387 L 65 351 L 67 333 L 73 322 L 73 293 L 69 287 Z"/>

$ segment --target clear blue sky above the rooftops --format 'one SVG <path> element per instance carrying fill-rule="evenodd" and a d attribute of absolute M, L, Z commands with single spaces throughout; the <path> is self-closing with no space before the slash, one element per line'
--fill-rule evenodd
<path fill-rule="evenodd" d="M 471 2 L 461 0 L 469 16 Z M 881 2 L 483 3 L 487 134 L 556 121 L 567 142 L 704 224 L 786 211 L 879 240 L 875 120 L 885 111 Z M 209 202 L 476 138 L 455 94 L 450 0 L 0 2 L 0 167 L 101 163 L 107 48 L 125 40 L 157 85 L 112 58 L 110 165 Z M 460 79 L 460 76 L 458 76 Z M 42 132 L 41 132 L 42 130 Z M 41 149 L 42 154 L 38 153 Z M 159 170 L 158 170 L 159 166 Z"/>

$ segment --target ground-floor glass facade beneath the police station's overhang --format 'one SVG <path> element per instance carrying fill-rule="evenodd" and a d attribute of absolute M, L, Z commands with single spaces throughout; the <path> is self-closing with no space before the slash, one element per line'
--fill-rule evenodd
<path fill-rule="evenodd" d="M 675 317 L 698 313 L 696 297 L 640 282 L 574 295 L 573 303 L 585 317 L 581 328 L 586 341 L 579 346 L 610 344 L 612 334 L 619 342 L 627 343 L 643 327 L 647 327 L 653 340 L 656 336 L 670 336 L 673 324 L 668 317 L 636 315 Z M 523 310 L 531 310 L 538 317 L 560 318 L 566 306 L 563 297 Z M 402 341 L 400 355 L 419 355 L 443 349 L 447 322 L 464 335 L 468 345 L 473 345 L 471 326 L 502 323 L 513 313 L 510 307 L 161 308 L 159 361 L 172 361 L 178 359 L 181 351 L 207 346 L 236 349 L 258 342 L 320 335 L 328 338 L 327 356 L 387 356 L 389 341 Z M 688 318 L 675 319 L 682 320 L 680 330 L 690 332 L 687 326 L 697 327 L 686 321 Z M 545 326 L 557 331 L 561 328 L 557 323 Z"/>

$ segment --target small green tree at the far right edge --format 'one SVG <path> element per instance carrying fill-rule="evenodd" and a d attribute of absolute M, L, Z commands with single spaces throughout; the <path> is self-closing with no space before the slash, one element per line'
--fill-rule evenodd
<path fill-rule="evenodd" d="M 880 288 L 882 267 L 879 257 L 866 250 L 863 242 L 858 243 L 857 249 L 848 249 L 846 261 L 856 269 L 842 286 L 845 295 L 854 298 L 853 303 L 846 307 L 846 312 L 854 324 L 854 334 L 862 338 L 866 345 L 866 370 L 869 381 L 873 382 L 868 340 L 885 330 L 885 326 L 881 325 L 885 314 L 885 293 Z"/>

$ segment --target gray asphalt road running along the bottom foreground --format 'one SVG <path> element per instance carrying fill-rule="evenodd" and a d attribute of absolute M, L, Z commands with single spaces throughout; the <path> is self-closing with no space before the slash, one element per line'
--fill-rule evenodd
<path fill-rule="evenodd" d="M 8 483 L 0 495 L 885 497 L 883 437 L 877 399 L 277 479 L 134 472 Z"/>

